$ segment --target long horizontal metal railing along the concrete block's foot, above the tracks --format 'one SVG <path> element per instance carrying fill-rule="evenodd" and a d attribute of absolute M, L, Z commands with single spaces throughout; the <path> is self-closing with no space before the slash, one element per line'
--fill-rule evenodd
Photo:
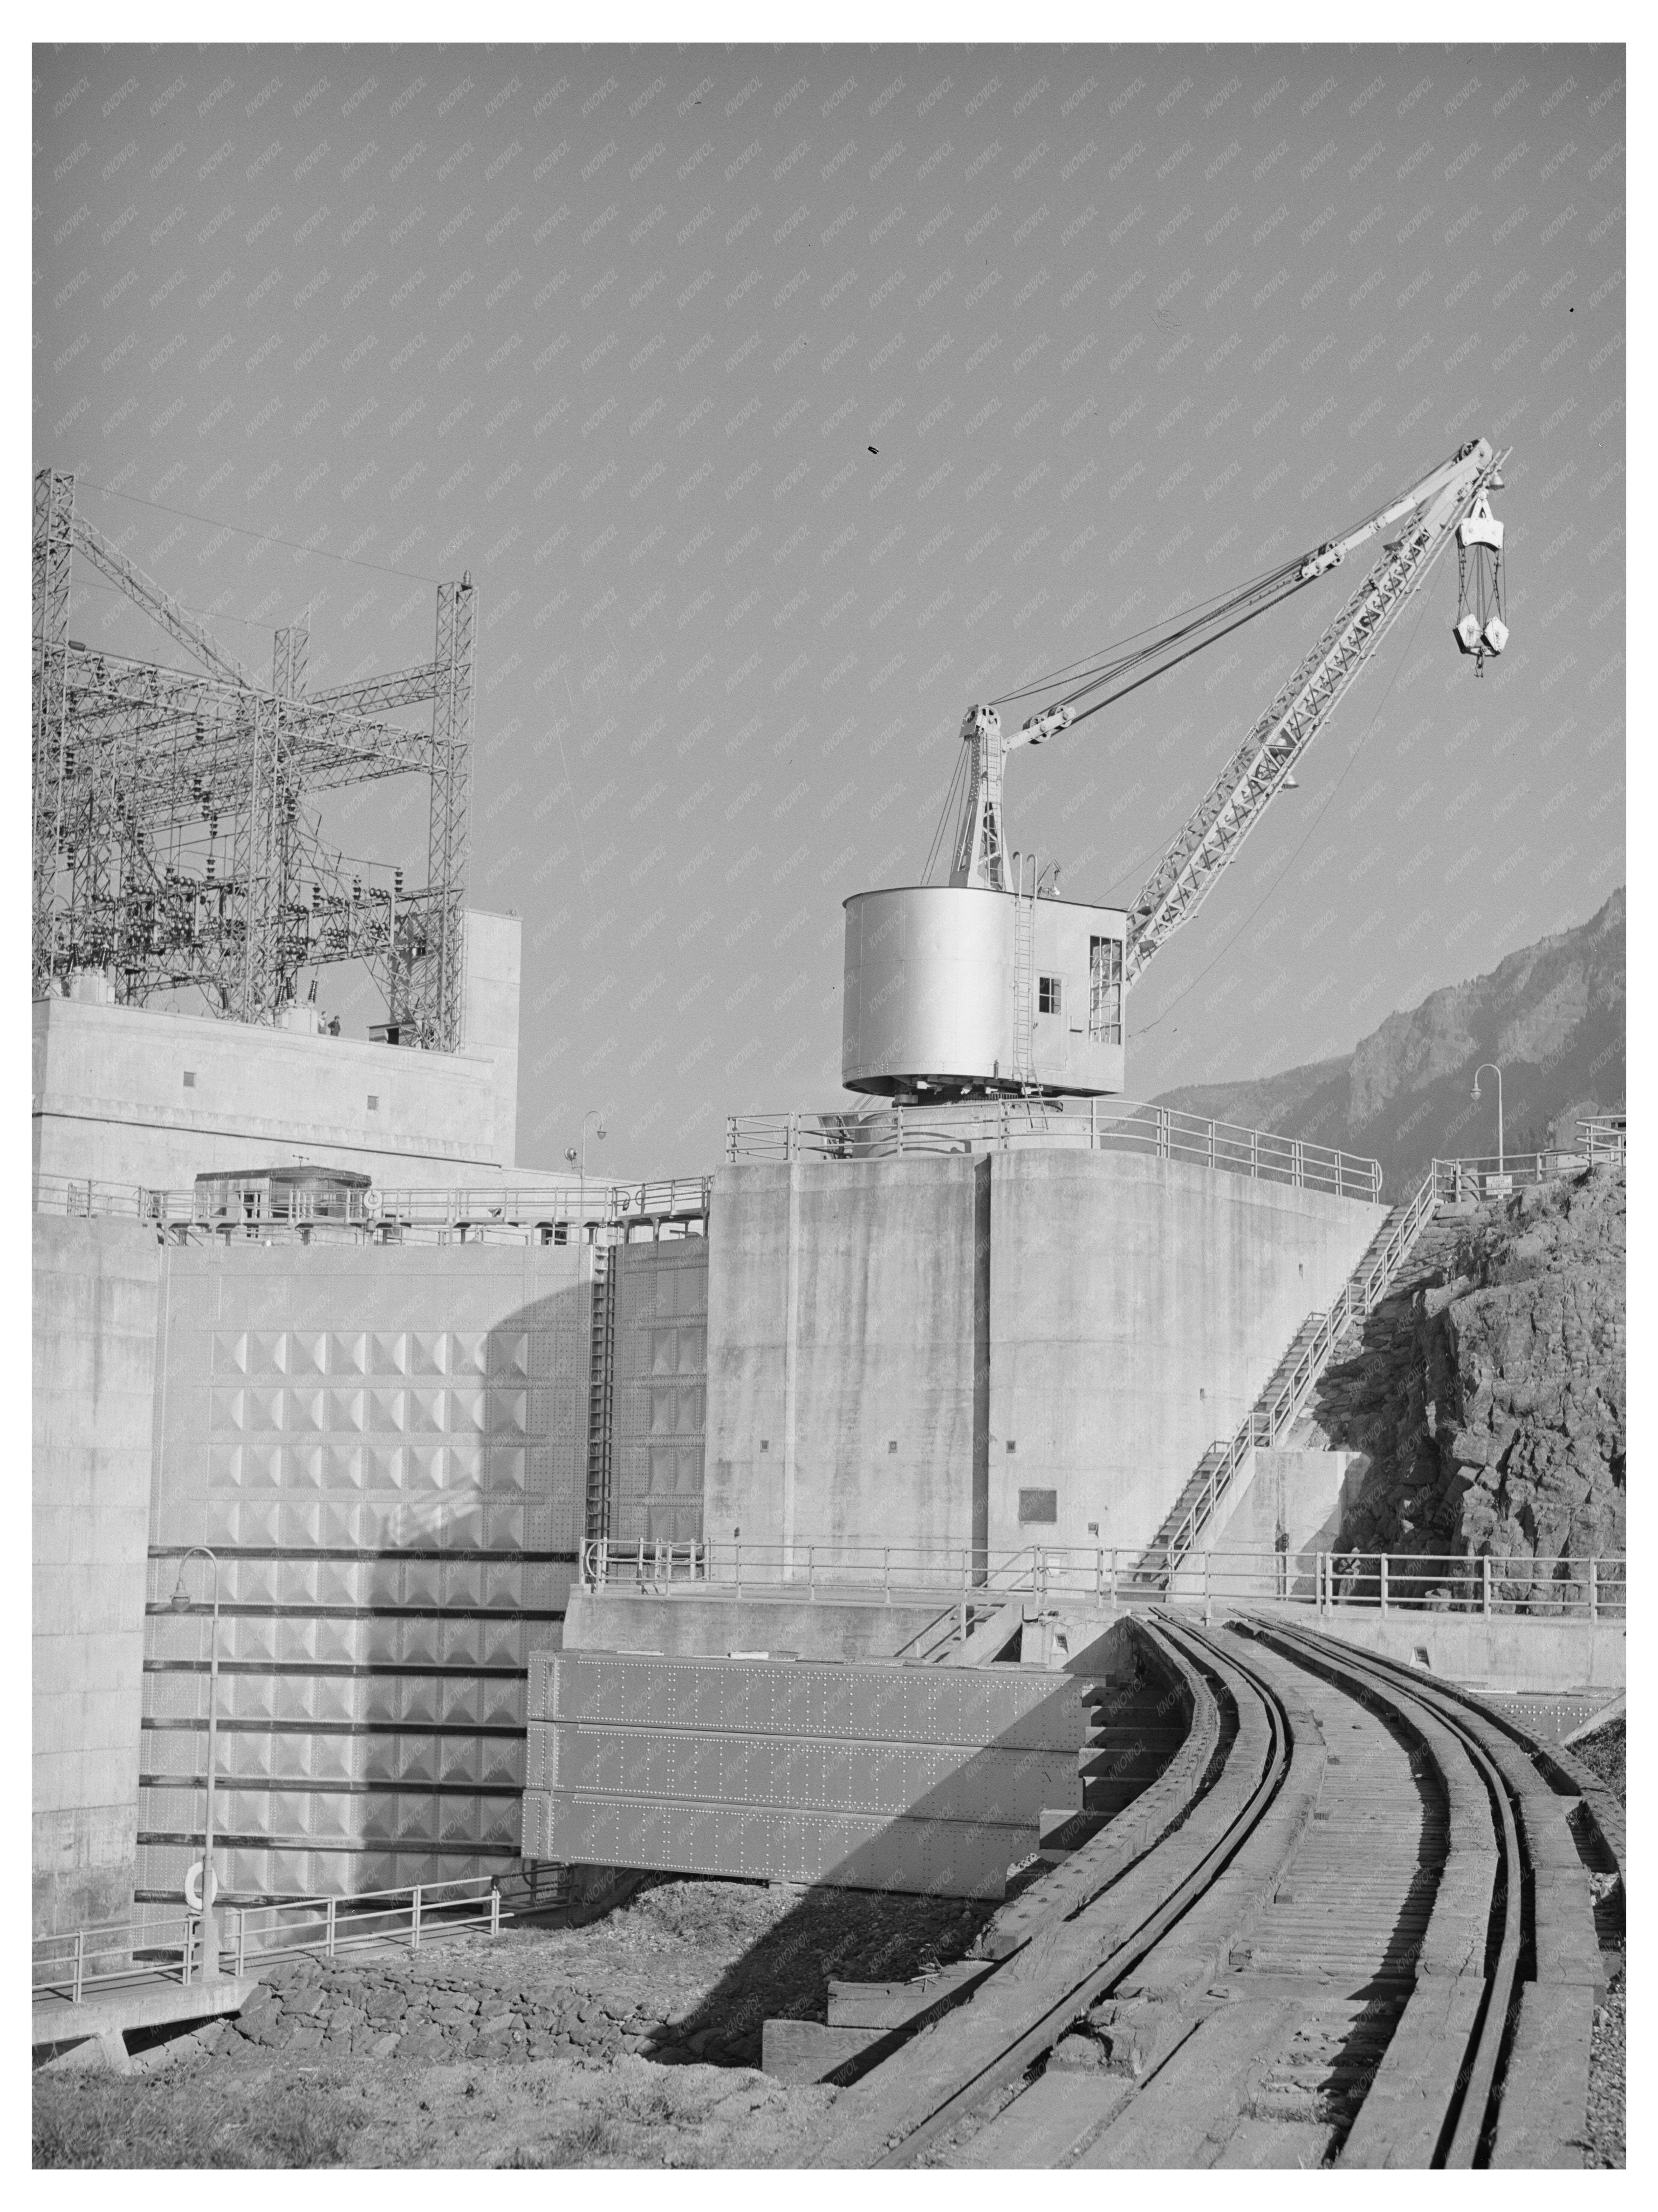
<path fill-rule="evenodd" d="M 1176 1551 L 1026 1544 L 1010 1553 L 904 1544 L 621 1544 L 588 1537 L 581 1586 L 643 1597 L 783 1595 L 928 1604 L 940 1597 L 1132 1601 L 1284 1599 L 1360 1610 L 1623 1619 L 1627 1562 L 1616 1557 L 1421 1555 L 1351 1551 Z"/>

